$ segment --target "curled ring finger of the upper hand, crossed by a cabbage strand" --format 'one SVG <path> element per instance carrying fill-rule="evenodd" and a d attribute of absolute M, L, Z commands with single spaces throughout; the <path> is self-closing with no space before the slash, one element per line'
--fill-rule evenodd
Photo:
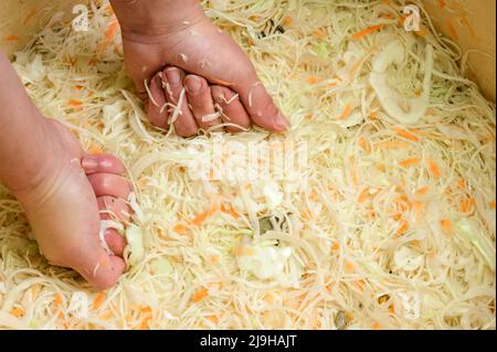
<path fill-rule="evenodd" d="M 177 67 L 168 67 L 163 71 L 166 96 L 170 104 L 177 106 L 179 104 L 183 87 L 184 73 Z M 171 114 L 172 115 L 172 114 Z M 188 107 L 187 96 L 183 96 L 180 106 L 180 114 L 175 121 L 175 129 L 178 136 L 191 137 L 197 135 L 198 126 L 193 114 Z"/>

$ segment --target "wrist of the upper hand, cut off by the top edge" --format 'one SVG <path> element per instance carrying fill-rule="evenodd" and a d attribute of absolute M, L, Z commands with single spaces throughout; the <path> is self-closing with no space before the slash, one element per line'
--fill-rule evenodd
<path fill-rule="evenodd" d="M 110 0 L 124 36 L 166 35 L 200 21 L 199 0 Z"/>

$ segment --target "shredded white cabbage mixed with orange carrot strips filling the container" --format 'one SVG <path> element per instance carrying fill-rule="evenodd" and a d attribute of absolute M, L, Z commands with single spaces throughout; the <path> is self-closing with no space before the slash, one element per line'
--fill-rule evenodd
<path fill-rule="evenodd" d="M 118 32 L 103 43 L 108 3 L 89 32 L 55 15 L 14 65 L 46 116 L 127 164 L 130 267 L 97 292 L 49 266 L 0 189 L 0 327 L 495 329 L 495 106 L 424 10 L 404 30 L 404 4 L 204 2 L 293 126 L 224 140 L 307 142 L 306 186 L 194 178 L 216 137 L 146 121 Z"/>

